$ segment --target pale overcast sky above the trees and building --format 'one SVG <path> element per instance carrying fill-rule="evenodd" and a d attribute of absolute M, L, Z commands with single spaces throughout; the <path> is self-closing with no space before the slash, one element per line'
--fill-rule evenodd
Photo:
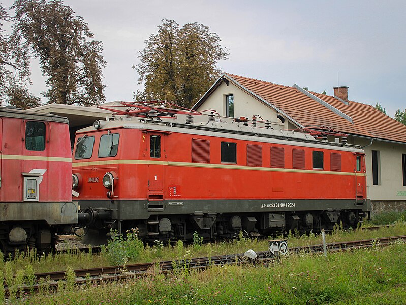
<path fill-rule="evenodd" d="M 12 0 L 0 0 L 8 8 Z M 406 108 L 406 1 L 65 0 L 103 42 L 106 101 L 132 100 L 137 52 L 161 19 L 207 25 L 230 51 L 225 72 L 350 100 Z M 12 12 L 11 12 L 12 14 Z M 33 66 L 34 67 L 34 66 Z M 33 71 L 33 93 L 46 88 Z M 367 119 L 367 118 L 366 118 Z"/>

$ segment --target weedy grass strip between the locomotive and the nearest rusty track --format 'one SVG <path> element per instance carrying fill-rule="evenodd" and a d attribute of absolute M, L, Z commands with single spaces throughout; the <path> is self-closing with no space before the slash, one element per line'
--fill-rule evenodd
<path fill-rule="evenodd" d="M 343 231 L 336 228 L 333 232 L 326 234 L 326 241 L 330 243 L 374 239 L 394 235 L 406 235 L 406 226 L 404 223 L 398 222 L 393 227 L 381 228 L 376 231 L 359 229 Z M 289 247 L 314 245 L 322 242 L 321 236 L 315 234 L 301 236 L 289 234 L 286 239 Z M 116 242 L 112 243 L 110 248 L 107 247 L 104 249 L 100 255 L 93 255 L 91 253 L 77 254 L 75 251 L 70 251 L 67 253 L 38 257 L 35 252 L 31 251 L 28 253 L 19 253 L 14 260 L 7 259 L 6 262 L 12 274 L 15 275 L 18 270 L 24 270 L 26 268 L 32 268 L 33 271 L 28 270 L 29 272 L 42 273 L 67 270 L 68 267 L 72 269 L 86 269 L 117 263 L 131 264 L 151 261 L 172 261 L 203 256 L 211 257 L 215 255 L 243 253 L 247 251 L 247 249 L 266 251 L 268 247 L 267 239 L 257 240 L 240 236 L 240 239 L 235 239 L 231 242 L 202 244 L 199 237 L 196 236 L 195 243 L 188 246 L 184 245 L 181 241 L 177 241 L 169 246 L 164 246 L 162 243 L 156 242 L 152 246 L 140 248 L 139 240 L 133 236 L 127 241 L 117 239 Z M 3 272 L 3 274 L 6 274 L 5 267 L 6 263 L 0 260 L 0 271 Z"/>

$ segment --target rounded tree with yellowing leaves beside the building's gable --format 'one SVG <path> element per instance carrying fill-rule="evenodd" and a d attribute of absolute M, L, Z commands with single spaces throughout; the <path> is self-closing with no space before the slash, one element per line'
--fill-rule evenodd
<path fill-rule="evenodd" d="M 133 66 L 139 84 L 145 82 L 144 92 L 135 97 L 157 97 L 192 107 L 221 73 L 216 63 L 227 59 L 228 50 L 220 42 L 203 24 L 179 27 L 173 20 L 162 20 L 158 32 L 138 52 L 140 64 Z"/>

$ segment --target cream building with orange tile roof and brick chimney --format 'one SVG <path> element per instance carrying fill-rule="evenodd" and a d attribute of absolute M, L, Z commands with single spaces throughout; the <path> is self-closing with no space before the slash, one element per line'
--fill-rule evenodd
<path fill-rule="evenodd" d="M 306 91 L 296 84 L 284 86 L 223 74 L 193 109 L 212 109 L 234 118 L 259 115 L 271 121 L 275 129 L 313 126 L 348 134 L 348 143 L 360 145 L 365 151 L 367 193 L 373 208 L 403 210 L 406 126 L 371 105 L 349 100 L 348 88 L 334 87 L 334 96 L 329 96 Z"/>

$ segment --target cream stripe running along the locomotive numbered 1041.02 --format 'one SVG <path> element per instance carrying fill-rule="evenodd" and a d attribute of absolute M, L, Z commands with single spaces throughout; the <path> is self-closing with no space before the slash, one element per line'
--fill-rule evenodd
<path fill-rule="evenodd" d="M 113 164 L 154 164 L 173 167 L 194 167 L 194 168 L 211 168 L 211 169 L 229 169 L 229 170 L 251 170 L 251 171 L 267 171 L 267 172 L 290 172 L 290 173 L 310 173 L 310 174 L 326 174 L 326 175 L 345 175 L 345 176 L 366 176 L 364 173 L 355 172 L 335 172 L 323 170 L 298 170 L 298 169 L 281 169 L 267 167 L 247 167 L 234 164 L 206 164 L 206 163 L 190 163 L 190 162 L 173 162 L 173 161 L 151 161 L 151 160 L 108 160 L 108 161 L 89 161 L 73 163 L 72 167 L 87 167 L 96 165 L 113 165 Z"/>

